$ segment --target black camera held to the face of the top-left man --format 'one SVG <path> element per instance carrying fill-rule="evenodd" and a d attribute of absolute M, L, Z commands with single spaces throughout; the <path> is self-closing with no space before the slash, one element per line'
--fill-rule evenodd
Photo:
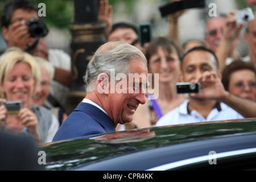
<path fill-rule="evenodd" d="M 48 28 L 46 24 L 37 18 L 31 18 L 26 22 L 28 26 L 28 32 L 32 38 L 43 38 L 48 34 Z"/>

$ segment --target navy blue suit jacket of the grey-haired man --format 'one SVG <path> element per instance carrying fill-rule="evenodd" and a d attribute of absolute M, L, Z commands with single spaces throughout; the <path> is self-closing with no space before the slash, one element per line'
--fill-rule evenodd
<path fill-rule="evenodd" d="M 57 130 L 52 142 L 114 131 L 108 115 L 92 104 L 81 102 Z"/>

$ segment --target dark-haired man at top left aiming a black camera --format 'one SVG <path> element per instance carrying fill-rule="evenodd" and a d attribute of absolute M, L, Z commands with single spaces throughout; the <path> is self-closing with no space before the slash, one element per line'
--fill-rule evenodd
<path fill-rule="evenodd" d="M 6 3 L 3 7 L 2 34 L 8 47 L 18 47 L 32 55 L 39 54 L 38 52 L 42 49 L 39 45 L 43 44 L 43 40 L 40 40 L 42 39 L 41 35 L 38 37 L 32 37 L 31 35 L 27 24 L 31 22 L 32 18 L 39 18 L 38 9 L 34 3 L 27 0 L 15 0 Z M 42 22 L 42 20 L 40 21 Z M 44 51 L 46 52 L 44 58 L 55 67 L 51 95 L 55 102 L 59 102 L 58 106 L 65 106 L 65 98 L 71 85 L 70 57 L 60 50 L 52 51 L 46 48 Z"/>

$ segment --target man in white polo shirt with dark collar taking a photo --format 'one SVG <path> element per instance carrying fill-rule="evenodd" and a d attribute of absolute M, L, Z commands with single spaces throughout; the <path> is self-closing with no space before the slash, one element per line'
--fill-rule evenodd
<path fill-rule="evenodd" d="M 256 116 L 255 102 L 234 96 L 224 89 L 217 57 L 209 49 L 190 49 L 181 59 L 181 71 L 181 80 L 200 82 L 201 92 L 191 93 L 188 100 L 160 118 L 156 126 Z"/>

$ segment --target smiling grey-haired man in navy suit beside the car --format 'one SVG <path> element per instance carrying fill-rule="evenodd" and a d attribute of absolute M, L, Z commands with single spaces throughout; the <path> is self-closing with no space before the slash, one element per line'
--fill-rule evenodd
<path fill-rule="evenodd" d="M 109 42 L 98 48 L 86 69 L 88 93 L 53 141 L 109 133 L 118 123 L 131 122 L 138 105 L 146 102 L 143 88 L 147 82 L 133 75 L 147 77 L 147 61 L 139 49 L 124 42 Z"/>

